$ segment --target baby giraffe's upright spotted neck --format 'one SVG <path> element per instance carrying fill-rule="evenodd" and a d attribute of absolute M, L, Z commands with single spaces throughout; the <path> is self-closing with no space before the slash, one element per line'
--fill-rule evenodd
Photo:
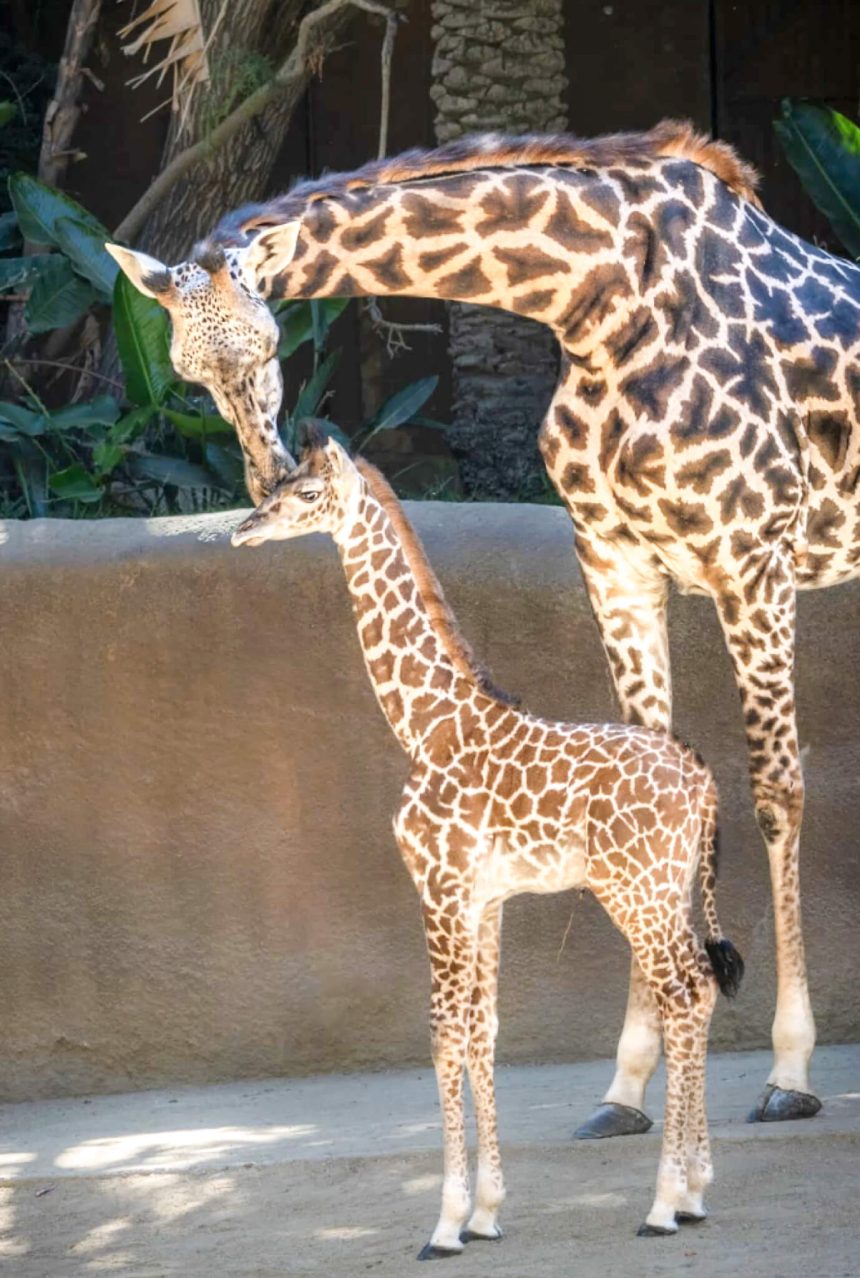
<path fill-rule="evenodd" d="M 480 695 L 479 667 L 460 636 L 423 547 L 386 481 L 359 463 L 360 488 L 335 542 L 377 700 L 413 757 Z"/>

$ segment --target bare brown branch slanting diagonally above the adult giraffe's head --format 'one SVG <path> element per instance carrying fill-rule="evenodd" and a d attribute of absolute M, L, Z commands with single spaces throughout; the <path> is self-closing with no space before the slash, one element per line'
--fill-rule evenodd
<path fill-rule="evenodd" d="M 118 240 L 133 240 L 143 227 L 152 211 L 161 203 L 167 192 L 179 181 L 183 174 L 197 162 L 211 157 L 212 152 L 222 147 L 248 120 L 254 119 L 268 104 L 280 93 L 288 92 L 304 83 L 309 69 L 313 66 L 314 54 L 318 45 L 314 43 L 325 29 L 326 24 L 342 9 L 362 9 L 364 13 L 376 14 L 386 22 L 392 15 L 391 10 L 376 0 L 326 0 L 318 9 L 312 10 L 299 23 L 298 37 L 289 58 L 279 68 L 271 81 L 262 84 L 253 93 L 239 104 L 226 120 L 212 133 L 196 142 L 193 146 L 180 151 L 170 164 L 162 169 L 150 189 L 141 197 L 137 204 L 123 219 L 114 236 Z"/>

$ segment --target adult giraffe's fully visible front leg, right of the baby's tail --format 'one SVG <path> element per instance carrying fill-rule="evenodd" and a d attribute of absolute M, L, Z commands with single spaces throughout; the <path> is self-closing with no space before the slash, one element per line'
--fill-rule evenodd
<path fill-rule="evenodd" d="M 809 1085 L 815 1022 L 800 920 L 800 824 L 804 776 L 795 716 L 795 576 L 790 548 L 767 569 L 750 565 L 744 597 L 717 611 L 735 667 L 749 745 L 755 818 L 771 866 L 777 1007 L 773 1070 L 750 1121 L 809 1118 L 822 1107 Z M 742 578 L 741 578 L 742 579 Z"/>

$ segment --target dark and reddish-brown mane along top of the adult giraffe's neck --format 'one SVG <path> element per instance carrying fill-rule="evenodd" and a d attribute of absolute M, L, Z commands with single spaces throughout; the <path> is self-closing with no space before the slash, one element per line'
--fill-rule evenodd
<path fill-rule="evenodd" d="M 572 133 L 503 137 L 473 134 L 434 151 L 405 151 L 388 160 L 373 160 L 353 173 L 334 173 L 298 183 L 285 196 L 265 204 L 247 204 L 227 213 L 212 238 L 238 243 L 262 226 L 277 226 L 300 217 L 316 199 L 344 196 L 350 190 L 391 183 L 417 181 L 477 169 L 512 169 L 560 165 L 576 169 L 607 169 L 613 165 L 648 164 L 667 156 L 690 160 L 716 174 L 742 199 L 758 204 L 759 178 L 727 142 L 714 142 L 696 133 L 689 120 L 662 120 L 648 133 L 610 133 L 578 138 Z"/>

